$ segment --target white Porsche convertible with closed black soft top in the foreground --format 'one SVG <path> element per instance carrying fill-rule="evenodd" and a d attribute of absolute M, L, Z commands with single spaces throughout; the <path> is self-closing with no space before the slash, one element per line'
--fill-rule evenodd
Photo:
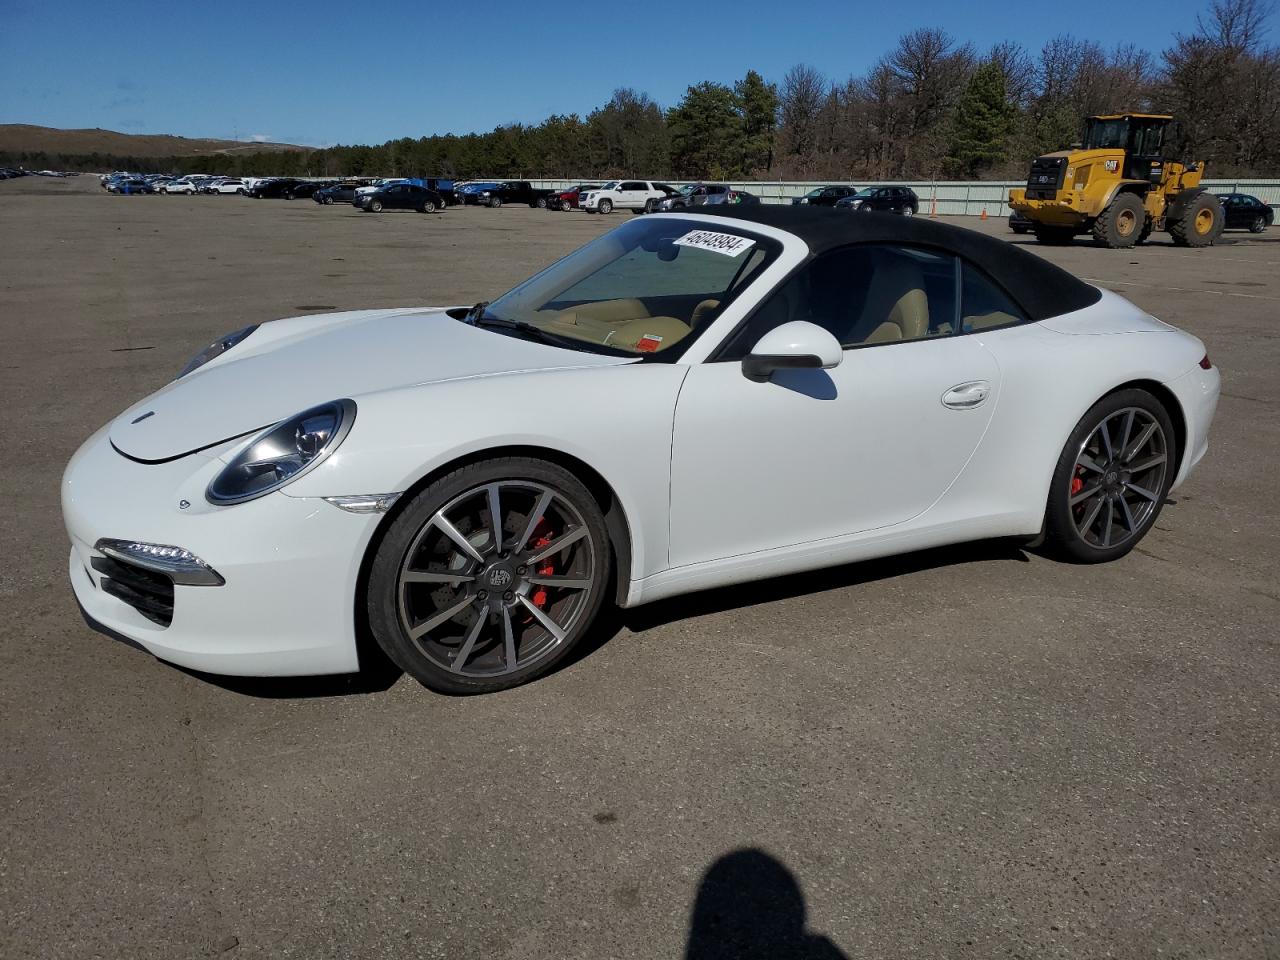
<path fill-rule="evenodd" d="M 1194 337 L 918 219 L 645 216 L 490 303 L 278 320 L 76 453 L 91 625 L 215 673 L 527 681 L 604 603 L 996 536 L 1124 556 L 1204 454 Z"/>

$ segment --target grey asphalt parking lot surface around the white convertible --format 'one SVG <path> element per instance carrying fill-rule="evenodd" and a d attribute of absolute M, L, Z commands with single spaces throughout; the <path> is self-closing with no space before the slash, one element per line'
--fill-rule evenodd
<path fill-rule="evenodd" d="M 82 623 L 63 466 L 212 337 L 488 300 L 625 216 L 0 184 L 0 955 L 1280 955 L 1280 229 L 1030 246 L 1224 374 L 1115 564 L 699 594 L 470 699 L 214 682 Z"/>

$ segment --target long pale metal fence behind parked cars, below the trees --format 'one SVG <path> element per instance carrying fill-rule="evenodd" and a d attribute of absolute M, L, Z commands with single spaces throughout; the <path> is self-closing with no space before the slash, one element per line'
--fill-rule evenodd
<path fill-rule="evenodd" d="M 503 178 L 495 178 L 503 179 Z M 724 182 L 724 180 L 722 180 Z M 599 183 L 599 180 L 531 180 L 544 189 L 567 189 L 579 183 Z M 664 180 L 672 187 L 682 187 L 687 180 Z M 803 197 L 814 187 L 855 186 L 855 187 L 910 187 L 920 198 L 920 212 L 937 212 L 940 216 L 1007 216 L 1009 191 L 1025 187 L 1025 180 L 739 180 L 728 182 L 733 189 L 745 189 L 760 198 L 762 204 L 790 204 L 795 197 Z M 1213 193 L 1252 193 L 1271 206 L 1280 206 L 1280 179 L 1213 179 L 1201 180 L 1206 189 Z"/>

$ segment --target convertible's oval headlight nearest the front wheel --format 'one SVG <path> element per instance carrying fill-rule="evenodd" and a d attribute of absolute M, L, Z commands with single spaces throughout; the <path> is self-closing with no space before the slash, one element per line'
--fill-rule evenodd
<path fill-rule="evenodd" d="M 279 490 L 333 453 L 355 421 L 355 402 L 339 399 L 269 426 L 223 467 L 205 498 L 230 506 Z"/>

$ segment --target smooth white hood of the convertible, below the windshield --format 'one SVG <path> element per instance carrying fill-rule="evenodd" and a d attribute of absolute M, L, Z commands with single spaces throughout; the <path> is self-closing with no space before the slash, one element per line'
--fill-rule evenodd
<path fill-rule="evenodd" d="M 111 424 L 111 444 L 134 460 L 165 461 L 332 399 L 355 399 L 358 422 L 360 396 L 378 390 L 627 362 L 470 326 L 443 310 L 279 320 L 127 410 Z"/>

